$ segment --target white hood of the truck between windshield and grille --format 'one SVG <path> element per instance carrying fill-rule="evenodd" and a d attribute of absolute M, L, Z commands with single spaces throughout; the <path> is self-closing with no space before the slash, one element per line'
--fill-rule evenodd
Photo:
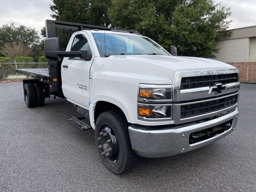
<path fill-rule="evenodd" d="M 176 71 L 235 69 L 234 66 L 217 60 L 162 55 L 113 55 L 95 58 L 90 78 L 94 74 L 119 81 L 125 77 L 136 84 L 172 84 Z"/>

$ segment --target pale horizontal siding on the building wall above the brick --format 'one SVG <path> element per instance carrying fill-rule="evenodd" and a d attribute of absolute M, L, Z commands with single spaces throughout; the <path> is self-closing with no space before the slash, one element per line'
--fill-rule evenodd
<path fill-rule="evenodd" d="M 248 57 L 249 38 L 222 40 L 218 44 L 220 49 L 216 60 L 222 62 L 246 62 Z"/>

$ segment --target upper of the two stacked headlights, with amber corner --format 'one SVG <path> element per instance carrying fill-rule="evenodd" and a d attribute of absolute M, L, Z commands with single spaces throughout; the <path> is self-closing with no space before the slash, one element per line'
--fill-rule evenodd
<path fill-rule="evenodd" d="M 170 88 L 139 88 L 139 98 L 171 99 Z"/>

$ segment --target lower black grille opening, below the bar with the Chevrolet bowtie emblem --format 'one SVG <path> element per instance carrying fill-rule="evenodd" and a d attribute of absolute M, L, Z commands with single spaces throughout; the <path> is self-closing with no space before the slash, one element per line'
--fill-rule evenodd
<path fill-rule="evenodd" d="M 196 102 L 194 104 L 184 104 L 180 106 L 180 119 L 198 116 L 230 107 L 237 103 L 238 95 L 227 96 L 225 98 Z"/>

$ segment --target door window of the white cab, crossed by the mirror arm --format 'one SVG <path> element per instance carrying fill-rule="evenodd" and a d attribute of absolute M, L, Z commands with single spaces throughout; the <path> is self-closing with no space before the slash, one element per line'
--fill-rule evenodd
<path fill-rule="evenodd" d="M 91 50 L 87 38 L 83 34 L 75 36 L 70 51 Z M 79 57 L 70 57 L 80 59 Z"/>

